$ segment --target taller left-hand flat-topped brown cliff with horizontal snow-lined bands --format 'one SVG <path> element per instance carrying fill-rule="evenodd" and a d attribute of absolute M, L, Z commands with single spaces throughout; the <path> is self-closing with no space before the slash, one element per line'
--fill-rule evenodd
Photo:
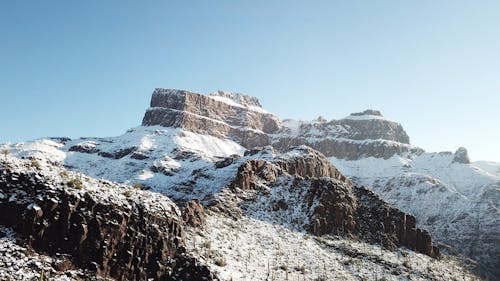
<path fill-rule="evenodd" d="M 222 96 L 227 97 L 226 94 Z M 230 104 L 189 91 L 156 89 L 142 124 L 180 127 L 196 133 L 234 138 L 248 148 L 268 145 L 268 134 L 281 126 L 279 119 L 253 110 L 251 106 L 260 108 L 255 98 L 241 94 L 229 97 L 243 104 Z"/>

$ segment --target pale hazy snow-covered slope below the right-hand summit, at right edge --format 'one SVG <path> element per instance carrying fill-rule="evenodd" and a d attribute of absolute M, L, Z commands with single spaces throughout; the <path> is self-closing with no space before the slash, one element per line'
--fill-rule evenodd
<path fill-rule="evenodd" d="M 500 257 L 500 177 L 453 158 L 452 153 L 423 153 L 387 160 L 330 160 L 354 182 L 414 214 L 438 241 L 495 271 Z"/>

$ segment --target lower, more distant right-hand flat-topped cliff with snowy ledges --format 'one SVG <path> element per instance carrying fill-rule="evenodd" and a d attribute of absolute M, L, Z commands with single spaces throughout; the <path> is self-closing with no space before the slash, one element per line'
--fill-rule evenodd
<path fill-rule="evenodd" d="M 285 120 L 283 128 L 273 138 L 273 146 L 278 150 L 305 144 L 327 157 L 348 160 L 363 157 L 387 159 L 396 154 L 423 152 L 409 142 L 400 124 L 383 118 L 379 111 L 374 110 L 353 113 L 340 120 Z"/>

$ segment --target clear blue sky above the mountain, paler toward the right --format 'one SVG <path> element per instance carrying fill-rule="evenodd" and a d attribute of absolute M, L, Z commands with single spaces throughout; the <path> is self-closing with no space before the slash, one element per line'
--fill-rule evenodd
<path fill-rule="evenodd" d="M 189 3 L 188 3 L 189 2 Z M 156 87 L 366 108 L 500 161 L 500 1 L 0 1 L 0 142 L 113 136 Z"/>

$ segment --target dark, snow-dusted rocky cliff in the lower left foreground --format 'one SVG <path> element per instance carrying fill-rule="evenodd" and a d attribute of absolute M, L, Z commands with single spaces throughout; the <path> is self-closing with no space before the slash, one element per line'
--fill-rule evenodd
<path fill-rule="evenodd" d="M 10 198 L 0 204 L 0 225 L 12 227 L 36 251 L 68 254 L 71 264 L 115 280 L 214 278 L 185 252 L 184 223 L 167 198 L 153 207 L 142 191 L 129 190 L 125 197 L 134 199 L 120 201 L 109 198 L 118 187 L 74 190 L 41 174 L 0 167 L 0 190 Z"/>

